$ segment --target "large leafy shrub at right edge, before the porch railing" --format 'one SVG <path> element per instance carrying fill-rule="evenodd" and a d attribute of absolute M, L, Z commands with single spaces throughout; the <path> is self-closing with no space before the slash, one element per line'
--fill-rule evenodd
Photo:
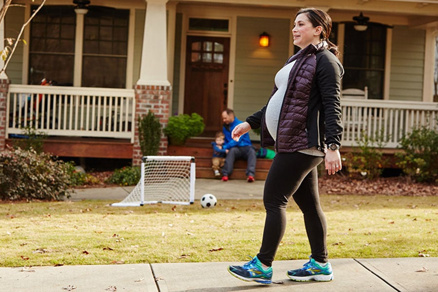
<path fill-rule="evenodd" d="M 425 126 L 413 128 L 400 140 L 403 152 L 396 153 L 397 165 L 417 182 L 438 182 L 438 131 Z"/>

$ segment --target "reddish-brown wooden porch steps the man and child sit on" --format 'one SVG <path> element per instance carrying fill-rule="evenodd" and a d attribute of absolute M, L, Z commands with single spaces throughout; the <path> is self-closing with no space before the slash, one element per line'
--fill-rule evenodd
<path fill-rule="evenodd" d="M 214 179 L 214 173 L 211 169 L 211 157 L 213 149 L 210 143 L 213 138 L 193 138 L 189 139 L 184 146 L 167 146 L 167 155 L 187 155 L 195 157 L 196 177 L 203 179 Z M 266 180 L 271 159 L 257 158 L 256 162 L 256 180 Z M 237 160 L 234 163 L 233 173 L 230 179 L 246 180 L 246 161 Z"/>

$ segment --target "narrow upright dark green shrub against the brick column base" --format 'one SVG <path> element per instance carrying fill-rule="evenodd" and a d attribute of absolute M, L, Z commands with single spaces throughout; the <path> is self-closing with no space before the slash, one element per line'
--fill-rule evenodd
<path fill-rule="evenodd" d="M 152 111 L 138 117 L 138 133 L 143 155 L 157 155 L 160 149 L 161 124 Z"/>

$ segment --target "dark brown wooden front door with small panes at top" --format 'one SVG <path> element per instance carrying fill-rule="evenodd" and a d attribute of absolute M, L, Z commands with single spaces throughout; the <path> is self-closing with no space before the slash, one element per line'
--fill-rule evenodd
<path fill-rule="evenodd" d="M 184 113 L 204 118 L 204 137 L 222 129 L 222 111 L 227 106 L 230 39 L 187 37 Z"/>

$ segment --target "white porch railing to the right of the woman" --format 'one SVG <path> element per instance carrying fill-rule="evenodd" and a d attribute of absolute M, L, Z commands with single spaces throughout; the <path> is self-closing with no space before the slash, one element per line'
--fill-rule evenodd
<path fill-rule="evenodd" d="M 389 100 L 341 99 L 344 123 L 343 146 L 357 146 L 364 133 L 385 148 L 396 148 L 412 128 L 438 128 L 438 103 Z"/>

